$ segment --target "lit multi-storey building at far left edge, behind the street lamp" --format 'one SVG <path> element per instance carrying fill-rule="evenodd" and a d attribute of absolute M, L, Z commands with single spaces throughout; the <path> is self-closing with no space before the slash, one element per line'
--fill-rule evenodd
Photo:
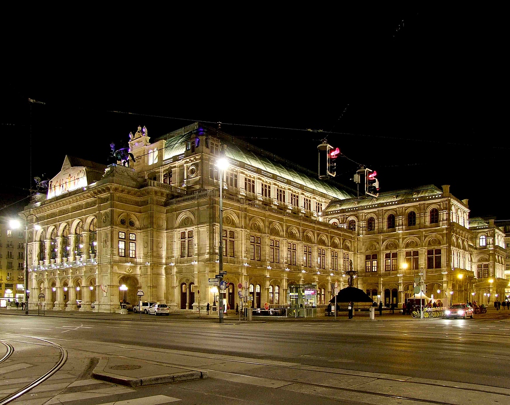
<path fill-rule="evenodd" d="M 11 220 L 0 217 L 0 306 L 24 300 L 24 224 L 15 228 Z"/>

